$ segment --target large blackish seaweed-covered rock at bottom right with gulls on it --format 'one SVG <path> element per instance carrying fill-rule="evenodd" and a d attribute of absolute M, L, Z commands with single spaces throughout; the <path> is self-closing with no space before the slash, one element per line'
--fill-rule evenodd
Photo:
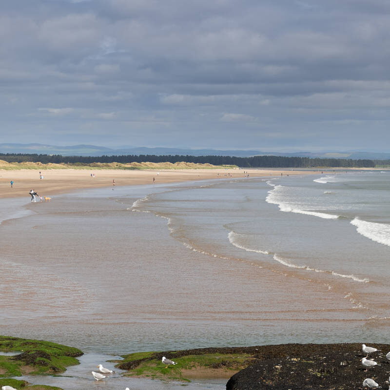
<path fill-rule="evenodd" d="M 390 351 L 389 344 L 370 344 Z M 254 348 L 254 347 L 250 347 Z M 372 378 L 388 388 L 387 367 L 375 366 L 365 372 L 360 359 L 362 344 L 282 344 L 258 348 L 256 361 L 234 374 L 227 390 L 349 390 L 362 389 L 363 380 Z M 386 358 L 372 354 L 379 364 Z"/>

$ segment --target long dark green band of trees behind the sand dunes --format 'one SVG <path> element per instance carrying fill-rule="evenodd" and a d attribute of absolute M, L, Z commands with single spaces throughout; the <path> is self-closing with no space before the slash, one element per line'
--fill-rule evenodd
<path fill-rule="evenodd" d="M 346 159 L 346 158 L 310 158 L 310 157 L 285 157 L 285 156 L 156 156 L 156 155 L 127 155 L 127 156 L 61 156 L 39 155 L 24 153 L 0 153 L 0 159 L 7 162 L 41 162 L 65 163 L 65 164 L 91 164 L 94 162 L 130 163 L 130 162 L 193 162 L 209 163 L 213 165 L 237 165 L 243 168 L 316 168 L 316 167 L 342 167 L 342 168 L 373 168 L 375 160 L 369 159 Z M 390 160 L 388 161 L 390 164 Z"/>

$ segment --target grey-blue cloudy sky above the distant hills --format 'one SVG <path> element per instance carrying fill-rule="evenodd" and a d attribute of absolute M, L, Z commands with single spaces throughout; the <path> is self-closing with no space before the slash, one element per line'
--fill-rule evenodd
<path fill-rule="evenodd" d="M 388 151 L 388 0 L 3 0 L 0 142 Z"/>

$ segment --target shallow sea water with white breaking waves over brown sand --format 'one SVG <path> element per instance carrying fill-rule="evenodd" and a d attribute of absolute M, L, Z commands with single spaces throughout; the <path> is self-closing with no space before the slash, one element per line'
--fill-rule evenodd
<path fill-rule="evenodd" d="M 389 171 L 5 202 L 1 334 L 111 354 L 387 342 Z"/>

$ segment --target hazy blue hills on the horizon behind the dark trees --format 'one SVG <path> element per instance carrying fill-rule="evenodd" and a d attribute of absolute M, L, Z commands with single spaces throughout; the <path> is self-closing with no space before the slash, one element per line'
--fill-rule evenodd
<path fill-rule="evenodd" d="M 286 156 L 286 157 L 310 157 L 310 158 L 351 158 L 351 159 L 390 159 L 389 153 L 371 153 L 371 152 L 264 152 L 259 150 L 218 150 L 218 149 L 178 149 L 178 148 L 147 148 L 134 147 L 123 149 L 111 149 L 96 145 L 72 145 L 56 146 L 44 145 L 40 143 L 0 143 L 0 153 L 27 153 L 44 155 L 62 155 L 62 156 L 122 156 L 122 155 L 180 155 L 180 156 Z"/>

